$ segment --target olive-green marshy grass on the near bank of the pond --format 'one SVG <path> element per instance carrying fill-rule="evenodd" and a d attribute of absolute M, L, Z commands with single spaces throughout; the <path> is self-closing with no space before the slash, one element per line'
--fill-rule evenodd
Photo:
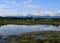
<path fill-rule="evenodd" d="M 42 35 L 45 38 L 37 38 Z M 15 38 L 15 43 L 60 43 L 60 31 L 44 31 L 31 32 L 22 35 L 9 36 L 7 43 L 14 43 L 12 38 Z"/>

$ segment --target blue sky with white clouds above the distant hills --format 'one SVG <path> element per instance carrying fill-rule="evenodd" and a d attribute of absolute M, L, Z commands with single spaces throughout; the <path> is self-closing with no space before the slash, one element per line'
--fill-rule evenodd
<path fill-rule="evenodd" d="M 0 16 L 60 16 L 60 0 L 0 0 Z"/>

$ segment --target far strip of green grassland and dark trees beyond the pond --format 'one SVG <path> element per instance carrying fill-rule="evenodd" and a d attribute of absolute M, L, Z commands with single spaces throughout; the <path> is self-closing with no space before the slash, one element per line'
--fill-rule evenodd
<path fill-rule="evenodd" d="M 52 24 L 60 25 L 60 18 L 16 18 L 16 17 L 0 17 L 0 25 L 18 24 L 18 25 L 31 25 L 31 24 Z"/>

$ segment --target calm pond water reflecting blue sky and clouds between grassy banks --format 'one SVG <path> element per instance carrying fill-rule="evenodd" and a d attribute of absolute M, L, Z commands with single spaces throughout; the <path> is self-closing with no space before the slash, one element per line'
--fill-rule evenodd
<path fill-rule="evenodd" d="M 3 25 L 0 27 L 0 35 L 21 34 L 32 31 L 60 30 L 60 26 L 53 25 Z"/>

